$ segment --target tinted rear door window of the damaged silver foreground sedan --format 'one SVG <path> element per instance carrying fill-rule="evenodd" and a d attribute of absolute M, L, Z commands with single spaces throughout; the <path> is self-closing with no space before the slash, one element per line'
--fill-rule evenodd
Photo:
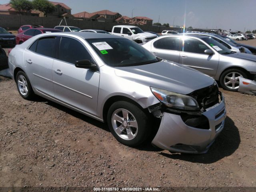
<path fill-rule="evenodd" d="M 36 53 L 54 58 L 55 42 L 56 37 L 54 36 L 40 38 L 37 43 Z"/>

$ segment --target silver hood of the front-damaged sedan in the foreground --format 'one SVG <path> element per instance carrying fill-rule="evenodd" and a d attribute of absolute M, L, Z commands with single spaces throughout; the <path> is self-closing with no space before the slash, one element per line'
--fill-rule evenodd
<path fill-rule="evenodd" d="M 116 67 L 115 73 L 146 86 L 180 94 L 189 94 L 214 83 L 213 78 L 197 70 L 166 60 L 141 66 Z"/>

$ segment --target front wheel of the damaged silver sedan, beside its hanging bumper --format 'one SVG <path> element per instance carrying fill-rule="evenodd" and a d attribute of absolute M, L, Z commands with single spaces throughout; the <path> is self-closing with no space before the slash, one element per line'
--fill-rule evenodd
<path fill-rule="evenodd" d="M 142 144 L 152 132 L 149 116 L 138 106 L 126 101 L 118 101 L 110 106 L 107 122 L 116 140 L 127 146 Z"/>

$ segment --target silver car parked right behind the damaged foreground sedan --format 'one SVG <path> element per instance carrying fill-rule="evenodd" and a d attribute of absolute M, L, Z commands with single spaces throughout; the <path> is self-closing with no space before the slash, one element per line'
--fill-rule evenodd
<path fill-rule="evenodd" d="M 256 74 L 255 55 L 231 51 L 209 36 L 161 36 L 142 46 L 159 58 L 209 75 L 230 91 L 238 90 L 239 77 L 254 79 Z"/>

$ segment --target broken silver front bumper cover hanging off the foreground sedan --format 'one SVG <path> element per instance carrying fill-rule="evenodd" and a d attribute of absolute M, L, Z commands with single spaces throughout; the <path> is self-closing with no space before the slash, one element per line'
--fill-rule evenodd
<path fill-rule="evenodd" d="M 206 153 L 222 131 L 226 118 L 224 97 L 222 101 L 202 113 L 209 121 L 209 129 L 194 128 L 184 123 L 181 116 L 164 112 L 160 127 L 152 144 L 171 152 Z"/>

